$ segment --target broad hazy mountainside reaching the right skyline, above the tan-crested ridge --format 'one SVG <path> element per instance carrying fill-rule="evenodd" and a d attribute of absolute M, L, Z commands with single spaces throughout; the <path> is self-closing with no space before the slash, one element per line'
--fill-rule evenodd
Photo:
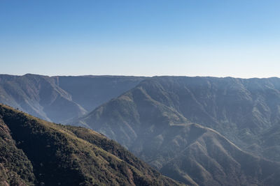
<path fill-rule="evenodd" d="M 110 131 L 99 126 L 125 123 L 123 132 L 133 137 L 139 126 L 186 121 L 213 128 L 237 146 L 258 153 L 252 147 L 260 148 L 258 136 L 280 124 L 280 79 L 153 77 L 78 122 L 104 134 Z"/>

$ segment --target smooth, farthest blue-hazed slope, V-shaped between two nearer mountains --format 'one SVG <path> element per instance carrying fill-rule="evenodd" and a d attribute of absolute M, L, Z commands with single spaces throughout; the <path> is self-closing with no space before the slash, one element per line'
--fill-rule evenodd
<path fill-rule="evenodd" d="M 92 111 L 100 104 L 134 88 L 146 77 L 130 76 L 59 76 L 59 87 L 71 94 L 74 102 Z"/>

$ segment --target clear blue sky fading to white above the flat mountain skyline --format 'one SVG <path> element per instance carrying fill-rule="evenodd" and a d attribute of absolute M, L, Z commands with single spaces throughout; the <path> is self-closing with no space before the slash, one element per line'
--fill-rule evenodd
<path fill-rule="evenodd" d="M 0 73 L 280 76 L 280 1 L 1 0 Z"/>

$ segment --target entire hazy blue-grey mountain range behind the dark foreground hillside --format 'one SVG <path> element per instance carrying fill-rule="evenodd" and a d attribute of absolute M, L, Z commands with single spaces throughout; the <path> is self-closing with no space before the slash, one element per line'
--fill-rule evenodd
<path fill-rule="evenodd" d="M 280 185 L 279 78 L 2 76 L 1 102 L 101 132 L 187 185 Z"/>

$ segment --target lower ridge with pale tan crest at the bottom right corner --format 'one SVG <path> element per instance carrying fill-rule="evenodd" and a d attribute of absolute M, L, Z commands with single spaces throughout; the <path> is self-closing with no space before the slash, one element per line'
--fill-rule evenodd
<path fill-rule="evenodd" d="M 174 152 L 172 159 L 160 168 L 166 176 L 185 183 L 190 177 L 198 185 L 280 184 L 278 162 L 245 153 L 214 130 L 190 125 L 179 126 L 176 133 L 176 137 L 161 148 L 169 155 Z"/>

